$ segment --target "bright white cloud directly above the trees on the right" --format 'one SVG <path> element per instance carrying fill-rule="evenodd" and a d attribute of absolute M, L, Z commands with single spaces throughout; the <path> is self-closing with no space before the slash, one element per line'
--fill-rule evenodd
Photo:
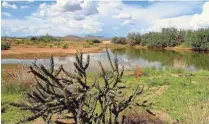
<path fill-rule="evenodd" d="M 199 29 L 209 27 L 209 2 L 202 6 L 202 12 L 194 15 L 183 15 L 171 18 L 160 18 L 150 21 L 147 28 L 140 31 L 142 33 L 150 31 L 160 31 L 162 28 L 175 27 L 177 29 Z"/>

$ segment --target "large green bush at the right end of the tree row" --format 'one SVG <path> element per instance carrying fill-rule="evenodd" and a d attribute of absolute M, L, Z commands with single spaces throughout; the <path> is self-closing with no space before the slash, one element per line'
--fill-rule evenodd
<path fill-rule="evenodd" d="M 200 29 L 197 31 L 187 31 L 185 35 L 185 42 L 194 50 L 208 50 L 209 49 L 209 28 Z"/>

